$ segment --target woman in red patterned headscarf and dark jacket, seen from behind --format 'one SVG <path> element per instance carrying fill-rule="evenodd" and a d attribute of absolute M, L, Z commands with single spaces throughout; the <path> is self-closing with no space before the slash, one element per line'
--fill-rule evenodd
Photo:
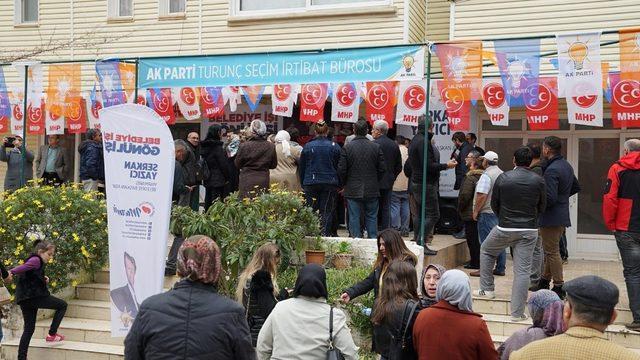
<path fill-rule="evenodd" d="M 220 272 L 215 241 L 204 235 L 186 239 L 178 254 L 182 280 L 142 302 L 124 341 L 124 357 L 254 359 L 244 308 L 216 289 Z"/>

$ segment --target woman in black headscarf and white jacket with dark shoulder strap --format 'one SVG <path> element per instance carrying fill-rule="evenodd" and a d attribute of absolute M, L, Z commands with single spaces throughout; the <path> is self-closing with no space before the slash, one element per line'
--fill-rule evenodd
<path fill-rule="evenodd" d="M 333 311 L 333 346 L 346 360 L 358 358 L 347 319 L 342 310 L 327 304 L 327 277 L 317 264 L 298 272 L 293 298 L 279 302 L 258 335 L 258 359 L 326 359 L 329 321 Z"/>

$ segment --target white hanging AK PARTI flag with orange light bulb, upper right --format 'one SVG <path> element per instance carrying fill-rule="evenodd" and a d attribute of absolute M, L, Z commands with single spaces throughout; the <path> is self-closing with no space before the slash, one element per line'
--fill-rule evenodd
<path fill-rule="evenodd" d="M 602 95 L 600 32 L 557 35 L 558 89 L 567 99 Z"/>

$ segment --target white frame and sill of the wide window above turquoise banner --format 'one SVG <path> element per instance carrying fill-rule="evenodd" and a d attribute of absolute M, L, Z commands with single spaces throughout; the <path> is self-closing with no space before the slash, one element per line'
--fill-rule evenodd
<path fill-rule="evenodd" d="M 242 0 L 229 0 L 232 16 L 282 15 L 283 11 L 293 14 L 313 14 L 326 10 L 367 9 L 393 6 L 394 0 L 373 0 L 346 4 L 312 5 L 314 0 L 305 0 L 305 7 L 289 9 L 241 10 Z"/>

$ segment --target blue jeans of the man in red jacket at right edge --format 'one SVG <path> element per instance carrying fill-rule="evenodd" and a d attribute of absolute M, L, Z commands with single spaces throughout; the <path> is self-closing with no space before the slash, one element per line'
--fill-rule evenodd
<path fill-rule="evenodd" d="M 640 233 L 616 231 L 633 322 L 640 322 Z"/>

